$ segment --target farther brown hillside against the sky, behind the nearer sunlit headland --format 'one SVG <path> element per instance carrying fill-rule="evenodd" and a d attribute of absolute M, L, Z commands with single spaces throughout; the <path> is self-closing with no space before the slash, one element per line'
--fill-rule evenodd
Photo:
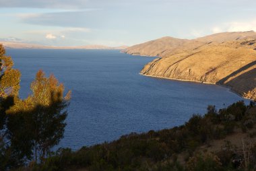
<path fill-rule="evenodd" d="M 166 57 L 177 53 L 183 53 L 197 49 L 205 44 L 220 44 L 227 41 L 241 41 L 256 39 L 256 32 L 224 32 L 204 36 L 193 40 L 163 37 L 149 42 L 130 46 L 123 51 L 131 55 L 141 55 L 150 57 Z"/>

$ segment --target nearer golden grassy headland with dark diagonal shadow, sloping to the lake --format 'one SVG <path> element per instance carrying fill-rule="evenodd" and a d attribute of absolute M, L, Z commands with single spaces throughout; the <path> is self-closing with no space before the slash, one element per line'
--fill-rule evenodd
<path fill-rule="evenodd" d="M 252 42 L 256 45 L 255 40 Z M 253 50 L 254 46 L 232 46 L 235 45 L 208 44 L 189 54 L 170 55 L 148 63 L 141 73 L 154 77 L 219 83 L 229 86 L 241 96 L 247 96 L 249 91 L 256 88 L 256 50 Z"/>

